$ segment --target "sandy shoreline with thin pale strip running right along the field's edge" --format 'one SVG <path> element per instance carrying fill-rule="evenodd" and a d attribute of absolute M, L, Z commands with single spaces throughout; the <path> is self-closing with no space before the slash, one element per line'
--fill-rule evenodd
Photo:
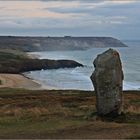
<path fill-rule="evenodd" d="M 0 73 L 0 88 L 18 88 L 27 90 L 64 90 L 64 91 L 89 91 L 94 92 L 94 90 L 80 90 L 80 89 L 59 89 L 57 87 L 52 87 L 49 85 L 42 85 L 38 81 L 27 77 L 24 74 L 7 74 Z M 140 90 L 123 90 L 124 92 L 139 92 Z"/>

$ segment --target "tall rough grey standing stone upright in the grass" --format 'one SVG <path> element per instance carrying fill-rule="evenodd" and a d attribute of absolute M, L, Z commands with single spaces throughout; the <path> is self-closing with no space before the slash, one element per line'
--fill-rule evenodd
<path fill-rule="evenodd" d="M 96 108 L 100 116 L 116 116 L 122 112 L 123 71 L 119 53 L 109 49 L 97 56 L 93 62 L 95 71 L 91 75 Z"/>

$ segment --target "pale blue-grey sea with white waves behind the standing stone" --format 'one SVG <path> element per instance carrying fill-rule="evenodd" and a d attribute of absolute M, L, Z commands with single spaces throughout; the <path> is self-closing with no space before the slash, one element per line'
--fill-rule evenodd
<path fill-rule="evenodd" d="M 140 41 L 125 41 L 126 48 L 114 48 L 119 51 L 124 71 L 124 90 L 140 90 Z M 112 47 L 113 48 L 113 47 Z M 85 51 L 48 51 L 33 52 L 40 59 L 72 59 L 84 67 L 31 71 L 25 73 L 44 89 L 94 90 L 90 75 L 94 71 L 93 60 L 108 48 L 92 48 Z"/>

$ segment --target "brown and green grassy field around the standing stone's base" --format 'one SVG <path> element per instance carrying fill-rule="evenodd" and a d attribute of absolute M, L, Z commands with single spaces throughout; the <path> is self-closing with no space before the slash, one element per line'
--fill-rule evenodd
<path fill-rule="evenodd" d="M 140 91 L 124 92 L 124 114 L 96 116 L 95 94 L 0 89 L 0 138 L 140 138 Z"/>

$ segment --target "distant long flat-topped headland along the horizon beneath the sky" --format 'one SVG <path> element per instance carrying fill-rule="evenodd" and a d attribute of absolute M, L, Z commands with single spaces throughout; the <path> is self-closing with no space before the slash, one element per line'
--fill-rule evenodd
<path fill-rule="evenodd" d="M 126 47 L 112 37 L 16 37 L 0 36 L 0 49 L 22 51 L 85 50 L 93 47 Z"/>

